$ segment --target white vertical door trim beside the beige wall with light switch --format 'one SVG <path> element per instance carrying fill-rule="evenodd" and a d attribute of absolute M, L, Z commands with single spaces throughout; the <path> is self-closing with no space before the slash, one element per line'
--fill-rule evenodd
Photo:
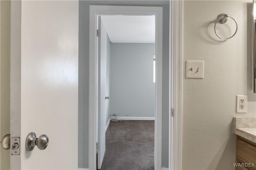
<path fill-rule="evenodd" d="M 170 0 L 169 169 L 182 169 L 183 0 Z M 174 117 L 171 116 L 174 109 Z"/>

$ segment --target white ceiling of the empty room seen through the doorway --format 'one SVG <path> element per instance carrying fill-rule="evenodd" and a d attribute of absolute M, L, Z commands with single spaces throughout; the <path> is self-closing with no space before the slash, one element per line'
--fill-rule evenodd
<path fill-rule="evenodd" d="M 110 42 L 155 43 L 155 16 L 102 16 Z"/>

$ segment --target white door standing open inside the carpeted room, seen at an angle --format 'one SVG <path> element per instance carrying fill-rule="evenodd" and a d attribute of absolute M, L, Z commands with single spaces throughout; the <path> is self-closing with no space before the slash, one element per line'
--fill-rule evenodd
<path fill-rule="evenodd" d="M 106 132 L 106 30 L 101 16 L 98 17 L 98 169 L 105 153 Z"/>

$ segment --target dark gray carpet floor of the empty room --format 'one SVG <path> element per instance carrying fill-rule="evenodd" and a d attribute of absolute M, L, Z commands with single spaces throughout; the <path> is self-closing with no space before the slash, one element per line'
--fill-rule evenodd
<path fill-rule="evenodd" d="M 154 121 L 110 122 L 101 170 L 154 170 Z"/>

